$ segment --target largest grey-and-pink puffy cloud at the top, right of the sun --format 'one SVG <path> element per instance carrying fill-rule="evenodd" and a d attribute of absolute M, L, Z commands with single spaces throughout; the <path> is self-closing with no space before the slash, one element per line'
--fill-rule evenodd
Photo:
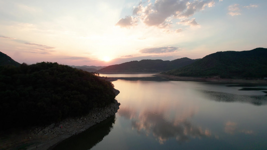
<path fill-rule="evenodd" d="M 188 18 L 195 12 L 212 7 L 213 0 L 155 0 L 151 2 L 140 2 L 138 6 L 134 6 L 133 15 L 136 19 L 147 26 L 157 26 L 160 28 L 168 27 L 172 24 L 172 20 L 176 18 Z M 121 18 L 117 25 L 121 27 L 136 25 L 137 21 L 132 23 L 133 17 L 126 16 Z"/>

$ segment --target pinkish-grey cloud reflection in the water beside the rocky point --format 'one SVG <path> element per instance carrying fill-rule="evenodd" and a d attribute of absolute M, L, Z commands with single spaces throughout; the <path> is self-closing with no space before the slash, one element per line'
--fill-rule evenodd
<path fill-rule="evenodd" d="M 187 117 L 175 117 L 167 120 L 164 112 L 159 110 L 143 111 L 139 115 L 134 109 L 123 108 L 118 111 L 120 116 L 132 120 L 132 127 L 141 134 L 152 134 L 159 143 L 175 138 L 178 142 L 189 141 L 190 138 L 201 138 L 210 136 L 208 129 L 193 125 L 189 118 L 194 112 L 189 112 Z"/>

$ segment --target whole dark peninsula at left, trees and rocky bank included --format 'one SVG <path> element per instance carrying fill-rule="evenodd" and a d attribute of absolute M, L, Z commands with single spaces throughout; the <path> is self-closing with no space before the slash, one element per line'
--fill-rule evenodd
<path fill-rule="evenodd" d="M 119 109 L 119 91 L 90 72 L 57 62 L 19 64 L 3 53 L 1 60 L 8 63 L 0 65 L 0 149 L 48 149 Z"/>

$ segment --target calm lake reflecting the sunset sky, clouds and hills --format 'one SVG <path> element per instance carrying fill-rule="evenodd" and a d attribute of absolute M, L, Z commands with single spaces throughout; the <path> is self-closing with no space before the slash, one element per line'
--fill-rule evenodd
<path fill-rule="evenodd" d="M 267 148 L 267 86 L 103 76 L 121 77 L 116 115 L 54 149 Z"/>

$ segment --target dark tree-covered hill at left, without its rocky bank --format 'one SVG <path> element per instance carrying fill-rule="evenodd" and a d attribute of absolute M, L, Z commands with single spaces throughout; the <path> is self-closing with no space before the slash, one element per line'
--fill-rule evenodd
<path fill-rule="evenodd" d="M 111 82 L 52 62 L 0 68 L 0 129 L 45 125 L 114 102 Z"/>

